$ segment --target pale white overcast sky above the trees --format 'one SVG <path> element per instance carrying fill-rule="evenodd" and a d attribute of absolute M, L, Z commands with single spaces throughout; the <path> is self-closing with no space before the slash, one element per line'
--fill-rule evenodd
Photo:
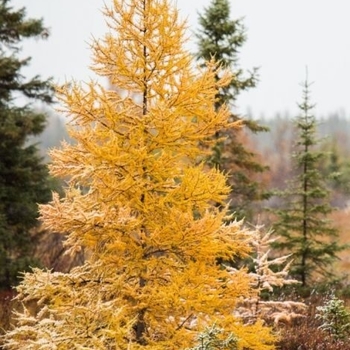
<path fill-rule="evenodd" d="M 100 12 L 111 0 L 12 0 L 29 16 L 44 18 L 51 30 L 47 41 L 32 41 L 24 54 L 32 56 L 31 74 L 55 81 L 93 77 L 88 66 L 88 42 L 105 33 Z M 197 12 L 210 0 L 177 0 L 191 29 Z M 260 67 L 260 83 L 237 102 L 242 114 L 273 116 L 297 113 L 300 82 L 314 81 L 316 114 L 350 113 L 350 1 L 349 0 L 231 0 L 232 18 L 244 17 L 248 41 L 242 49 L 242 68 Z M 193 50 L 195 46 L 193 45 Z"/>

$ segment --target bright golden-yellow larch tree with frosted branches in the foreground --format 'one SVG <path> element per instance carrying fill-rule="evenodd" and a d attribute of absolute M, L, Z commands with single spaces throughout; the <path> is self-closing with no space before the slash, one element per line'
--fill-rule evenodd
<path fill-rule="evenodd" d="M 213 62 L 194 70 L 166 0 L 117 0 L 104 13 L 110 31 L 92 44 L 93 69 L 120 89 L 58 89 L 77 143 L 52 152 L 51 172 L 70 180 L 64 198 L 41 206 L 46 226 L 89 258 L 69 273 L 25 274 L 19 299 L 40 311 L 18 315 L 5 347 L 178 350 L 216 324 L 239 349 L 273 349 L 269 328 L 234 313 L 254 293 L 246 270 L 216 263 L 247 254 L 252 237 L 214 205 L 229 189 L 199 147 L 237 127 L 214 108 L 230 75 Z"/>

